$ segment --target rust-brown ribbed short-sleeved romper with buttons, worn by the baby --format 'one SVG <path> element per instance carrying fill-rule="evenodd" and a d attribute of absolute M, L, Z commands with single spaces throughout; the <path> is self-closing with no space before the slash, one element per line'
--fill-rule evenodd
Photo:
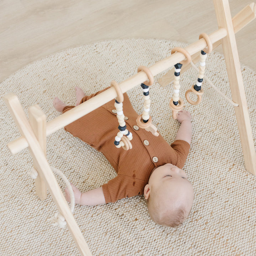
<path fill-rule="evenodd" d="M 104 90 L 85 96 L 81 103 Z M 65 107 L 63 112 L 73 107 Z M 133 134 L 132 149 L 126 151 L 116 148 L 114 139 L 119 130 L 116 114 L 112 112 L 114 109 L 114 100 L 111 100 L 65 127 L 65 130 L 73 136 L 102 152 L 116 170 L 117 176 L 102 185 L 106 203 L 143 194 L 154 167 L 171 163 L 183 168 L 190 150 L 190 144 L 184 140 L 175 140 L 169 145 L 161 135 L 155 137 L 145 129 L 137 130 L 134 126 L 137 126 L 138 114 L 133 109 L 126 93 L 124 94 L 123 112 L 128 117 L 127 129 Z"/>

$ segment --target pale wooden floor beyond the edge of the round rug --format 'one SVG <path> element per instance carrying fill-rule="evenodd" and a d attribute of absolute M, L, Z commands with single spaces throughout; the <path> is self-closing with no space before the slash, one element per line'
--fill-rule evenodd
<path fill-rule="evenodd" d="M 250 4 L 229 3 L 232 16 Z M 28 63 L 90 42 L 135 37 L 192 43 L 218 28 L 211 0 L 1 0 L 0 20 L 0 81 Z M 254 70 L 255 32 L 256 20 L 236 34 L 240 62 Z"/>

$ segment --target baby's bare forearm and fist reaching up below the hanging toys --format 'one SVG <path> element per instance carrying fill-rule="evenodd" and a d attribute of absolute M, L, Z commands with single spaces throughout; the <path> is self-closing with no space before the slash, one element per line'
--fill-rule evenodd
<path fill-rule="evenodd" d="M 191 114 L 186 110 L 178 112 L 177 121 L 180 122 L 180 128 L 178 129 L 176 140 L 185 140 L 191 144 L 192 138 L 192 125 L 191 125 Z"/>

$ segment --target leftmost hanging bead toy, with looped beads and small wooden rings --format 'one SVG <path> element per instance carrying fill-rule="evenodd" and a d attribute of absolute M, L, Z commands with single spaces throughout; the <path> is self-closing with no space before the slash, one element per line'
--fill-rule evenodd
<path fill-rule="evenodd" d="M 122 147 L 124 150 L 132 149 L 132 144 L 130 143 L 130 140 L 132 140 L 132 133 L 126 129 L 126 122 L 124 121 L 123 93 L 116 81 L 111 81 L 110 85 L 113 86 L 114 89 L 116 89 L 116 92 L 118 95 L 115 99 L 114 106 L 116 107 L 116 111 L 117 111 L 119 132 L 117 133 L 117 136 L 115 137 L 114 144 L 116 145 L 117 148 Z M 123 135 L 126 135 L 126 137 L 124 137 Z"/>

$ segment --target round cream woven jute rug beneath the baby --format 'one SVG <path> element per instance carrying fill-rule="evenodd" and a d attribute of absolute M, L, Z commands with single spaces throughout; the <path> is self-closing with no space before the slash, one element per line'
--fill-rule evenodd
<path fill-rule="evenodd" d="M 55 96 L 75 103 L 75 86 L 86 94 L 123 81 L 139 65 L 151 66 L 167 57 L 179 42 L 156 39 L 121 39 L 67 49 L 27 65 L 0 86 L 1 96 L 13 92 L 27 114 L 38 104 L 47 121 L 58 116 Z M 253 137 L 256 138 L 256 73 L 242 65 Z M 165 73 L 163 73 L 165 74 Z M 172 85 L 161 87 L 155 77 L 150 87 L 151 116 L 159 132 L 171 143 L 179 124 L 171 118 Z M 206 74 L 231 98 L 223 55 L 208 54 Z M 194 69 L 181 75 L 180 97 L 196 82 Z M 75 206 L 74 217 L 92 255 L 256 255 L 256 177 L 245 169 L 234 107 L 204 81 L 201 104 L 185 108 L 193 116 L 193 137 L 184 169 L 194 186 L 190 217 L 178 228 L 155 224 L 143 196 L 99 206 Z M 143 110 L 142 89 L 128 92 L 138 113 Z M 79 255 L 68 228 L 53 226 L 57 212 L 48 194 L 36 196 L 29 175 L 32 158 L 27 149 L 11 155 L 6 144 L 20 136 L 1 99 L 0 255 Z M 47 137 L 49 164 L 64 172 L 81 191 L 101 186 L 116 173 L 90 146 L 64 129 Z M 65 184 L 56 177 L 61 188 Z"/>

